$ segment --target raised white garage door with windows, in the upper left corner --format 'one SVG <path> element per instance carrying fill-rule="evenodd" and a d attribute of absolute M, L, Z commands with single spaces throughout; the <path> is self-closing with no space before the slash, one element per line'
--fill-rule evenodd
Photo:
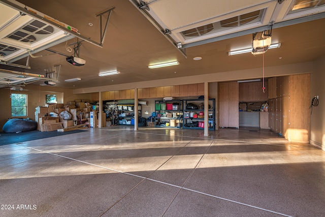
<path fill-rule="evenodd" d="M 17 4 L 19 4 L 17 2 Z M 21 6 L 20 6 L 21 7 Z M 24 8 L 23 6 L 22 8 Z M 26 10 L 29 10 L 26 8 Z M 35 13 L 40 15 L 40 12 Z M 41 51 L 74 36 L 42 20 L 20 13 L 0 3 L 0 60 L 16 61 L 29 55 L 28 51 Z M 43 17 L 46 16 L 43 14 Z M 48 16 L 46 16 L 48 17 Z M 54 20 L 52 18 L 52 20 Z"/>

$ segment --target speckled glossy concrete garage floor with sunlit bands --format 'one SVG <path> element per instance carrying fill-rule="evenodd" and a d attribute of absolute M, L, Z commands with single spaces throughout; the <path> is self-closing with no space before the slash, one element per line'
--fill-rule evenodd
<path fill-rule="evenodd" d="M 324 151 L 209 133 L 117 126 L 3 145 L 0 216 L 325 216 Z"/>

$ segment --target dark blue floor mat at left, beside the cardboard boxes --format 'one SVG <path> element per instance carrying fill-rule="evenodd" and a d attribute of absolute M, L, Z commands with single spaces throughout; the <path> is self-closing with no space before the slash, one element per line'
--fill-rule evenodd
<path fill-rule="evenodd" d="M 41 132 L 38 130 L 35 131 L 28 131 L 28 132 L 22 132 L 22 133 L 0 133 L 0 146 L 1 145 L 8 145 L 13 143 L 19 143 L 19 142 L 26 142 L 31 140 L 37 140 L 37 139 L 44 139 L 44 138 L 50 138 L 54 136 L 62 136 L 62 135 L 68 135 L 73 133 L 80 133 L 80 132 L 86 132 L 84 130 L 74 130 L 74 131 L 67 131 L 67 132 L 57 132 L 57 131 L 51 131 L 51 132 Z"/>

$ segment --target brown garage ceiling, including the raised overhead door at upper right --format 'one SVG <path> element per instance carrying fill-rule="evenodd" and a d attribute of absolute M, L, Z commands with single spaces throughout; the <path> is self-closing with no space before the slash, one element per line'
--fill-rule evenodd
<path fill-rule="evenodd" d="M 265 53 L 266 67 L 309 62 L 325 54 L 324 0 L 231 0 L 223 3 L 215 0 L 96 0 L 96 4 L 89 4 L 86 0 L 70 0 L 69 4 L 63 0 L 45 1 L 42 4 L 32 0 L 18 2 L 75 27 L 80 38 L 53 26 L 52 32 L 61 33 L 59 39 L 62 41 L 53 43 L 55 39 L 39 47 L 22 47 L 21 52 L 25 56 L 10 57 L 3 54 L 0 69 L 8 70 L 7 65 L 13 63 L 30 66 L 30 70 L 20 68 L 21 72 L 46 75 L 46 72 L 55 70 L 54 66 L 60 65 L 60 82 L 55 85 L 58 87 L 82 88 L 149 82 L 260 68 L 262 55 L 245 53 L 229 56 L 228 52 L 251 47 L 252 33 L 268 30 L 271 24 L 272 43 L 280 42 L 281 47 Z M 13 15 L 4 9 L 4 5 L 0 7 L 1 14 L 6 14 L 0 18 L 0 44 L 3 43 L 10 50 L 17 46 L 19 40 L 31 36 L 19 36 L 17 29 L 12 30 L 7 26 Z M 111 8 L 114 9 L 105 32 L 108 13 L 96 15 Z M 17 19 L 26 19 L 17 12 L 12 13 Z M 24 21 L 20 29 L 33 21 Z M 41 28 L 50 29 L 47 26 Z M 100 43 L 102 36 L 105 36 L 102 47 L 87 42 L 89 39 Z M 17 37 L 20 39 L 10 44 Z M 77 54 L 86 60 L 86 64 L 81 67 L 72 66 L 66 61 L 67 56 L 76 55 L 69 51 L 74 50 L 77 41 L 81 42 Z M 32 46 L 35 42 L 28 43 Z M 32 56 L 27 49 L 31 50 Z M 193 60 L 197 56 L 202 59 Z M 177 66 L 148 69 L 152 64 L 176 60 L 180 63 Z M 18 69 L 11 67 L 10 70 Z M 101 72 L 115 70 L 120 74 L 99 77 Z M 72 78 L 81 80 L 64 82 Z M 42 83 L 44 81 L 40 80 L 32 84 Z"/>

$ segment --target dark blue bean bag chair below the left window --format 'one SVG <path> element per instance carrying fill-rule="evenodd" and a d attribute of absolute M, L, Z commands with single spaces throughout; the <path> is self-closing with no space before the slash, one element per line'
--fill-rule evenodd
<path fill-rule="evenodd" d="M 5 133 L 20 133 L 37 129 L 37 122 L 29 119 L 9 119 L 2 130 Z"/>

